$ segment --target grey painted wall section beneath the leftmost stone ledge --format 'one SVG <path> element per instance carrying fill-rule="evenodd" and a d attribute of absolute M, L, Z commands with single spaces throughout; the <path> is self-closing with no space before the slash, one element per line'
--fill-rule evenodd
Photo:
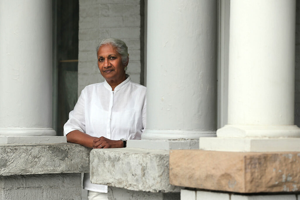
<path fill-rule="evenodd" d="M 0 176 L 0 199 L 81 199 L 81 174 Z"/>

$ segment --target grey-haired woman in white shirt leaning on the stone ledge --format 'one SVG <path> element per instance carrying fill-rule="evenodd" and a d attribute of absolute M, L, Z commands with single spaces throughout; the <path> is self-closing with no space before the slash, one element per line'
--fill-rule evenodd
<path fill-rule="evenodd" d="M 127 139 L 141 139 L 146 127 L 146 87 L 125 73 L 128 48 L 108 38 L 97 48 L 98 68 L 105 81 L 86 86 L 64 125 L 67 141 L 89 148 L 123 148 Z M 84 175 L 88 199 L 107 199 L 107 186 Z M 98 196 L 98 197 L 97 197 Z"/>

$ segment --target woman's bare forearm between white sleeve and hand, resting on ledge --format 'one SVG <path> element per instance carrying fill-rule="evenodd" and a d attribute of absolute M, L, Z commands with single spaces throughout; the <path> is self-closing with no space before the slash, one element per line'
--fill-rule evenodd
<path fill-rule="evenodd" d="M 85 147 L 93 148 L 93 140 L 97 137 L 90 136 L 79 130 L 73 130 L 67 134 L 67 142 L 76 143 Z"/>

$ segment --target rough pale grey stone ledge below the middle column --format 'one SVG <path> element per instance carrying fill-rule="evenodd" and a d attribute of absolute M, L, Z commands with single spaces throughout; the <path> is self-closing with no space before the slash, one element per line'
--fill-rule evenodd
<path fill-rule="evenodd" d="M 92 183 L 144 192 L 180 192 L 181 187 L 169 183 L 169 151 L 93 149 L 90 160 Z"/>

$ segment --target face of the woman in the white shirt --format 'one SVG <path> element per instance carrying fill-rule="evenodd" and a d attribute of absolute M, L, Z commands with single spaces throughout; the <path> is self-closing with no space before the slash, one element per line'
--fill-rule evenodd
<path fill-rule="evenodd" d="M 115 48 L 106 44 L 99 48 L 97 55 L 98 67 L 105 80 L 123 81 L 124 77 L 126 77 L 124 67 L 127 64 L 124 65 L 122 63 L 121 54 Z"/>

